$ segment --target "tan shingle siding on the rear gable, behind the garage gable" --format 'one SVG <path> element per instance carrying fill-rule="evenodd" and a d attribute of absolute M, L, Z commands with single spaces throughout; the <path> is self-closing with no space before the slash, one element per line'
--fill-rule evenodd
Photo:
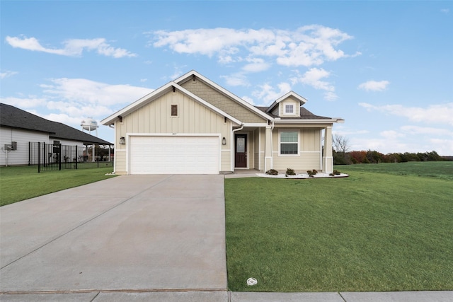
<path fill-rule="evenodd" d="M 233 117 L 236 117 L 236 119 L 240 120 L 241 122 L 266 122 L 263 117 L 260 117 L 251 110 L 243 107 L 235 100 L 231 100 L 231 98 L 220 93 L 219 91 L 214 90 L 214 88 L 208 86 L 200 79 L 196 79 L 196 81 L 187 81 L 181 86 L 183 86 L 191 93 L 199 96 L 203 100 L 211 103 L 220 110 L 228 113 Z"/>

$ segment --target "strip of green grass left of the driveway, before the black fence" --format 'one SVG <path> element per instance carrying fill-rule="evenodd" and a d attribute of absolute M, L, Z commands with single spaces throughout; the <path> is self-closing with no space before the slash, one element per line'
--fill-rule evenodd
<path fill-rule="evenodd" d="M 77 170 L 52 170 L 38 173 L 36 166 L 0 168 L 0 206 L 44 194 L 86 185 L 113 176 L 111 163 L 81 163 Z"/>

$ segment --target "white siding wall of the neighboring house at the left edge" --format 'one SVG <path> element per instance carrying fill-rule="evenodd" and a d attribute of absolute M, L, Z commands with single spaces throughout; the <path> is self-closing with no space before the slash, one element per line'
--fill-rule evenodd
<path fill-rule="evenodd" d="M 8 165 L 28 165 L 28 142 L 49 141 L 47 132 L 35 132 L 22 129 L 0 127 L 0 146 L 4 149 L 5 144 L 17 142 L 17 150 L 8 152 Z M 0 165 L 6 165 L 4 150 L 0 153 Z"/>

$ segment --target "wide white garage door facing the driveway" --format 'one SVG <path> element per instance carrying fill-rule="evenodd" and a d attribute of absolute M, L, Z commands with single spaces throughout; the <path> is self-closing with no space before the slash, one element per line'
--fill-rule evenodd
<path fill-rule="evenodd" d="M 219 174 L 219 137 L 130 137 L 130 174 Z"/>

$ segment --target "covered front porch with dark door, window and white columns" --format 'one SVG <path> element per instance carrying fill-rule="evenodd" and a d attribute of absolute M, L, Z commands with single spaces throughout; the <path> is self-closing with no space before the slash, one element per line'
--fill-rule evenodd
<path fill-rule="evenodd" d="M 249 125 L 233 129 L 231 167 L 234 173 L 270 169 L 333 171 L 332 125 Z"/>

